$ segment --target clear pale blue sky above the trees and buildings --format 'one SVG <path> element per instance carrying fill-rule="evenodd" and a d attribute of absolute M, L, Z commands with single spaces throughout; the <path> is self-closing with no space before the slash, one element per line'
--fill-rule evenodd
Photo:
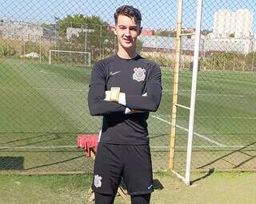
<path fill-rule="evenodd" d="M 175 27 L 176 0 L 0 0 L 0 18 L 13 21 L 53 23 L 54 16 L 64 18 L 68 14 L 98 15 L 104 21 L 114 24 L 113 14 L 118 6 L 129 4 L 142 12 L 142 26 L 150 29 Z M 194 27 L 196 0 L 183 1 L 183 27 Z M 254 14 L 255 0 L 205 0 L 202 12 L 202 28 L 212 29 L 214 13 L 219 9 L 249 9 Z"/>

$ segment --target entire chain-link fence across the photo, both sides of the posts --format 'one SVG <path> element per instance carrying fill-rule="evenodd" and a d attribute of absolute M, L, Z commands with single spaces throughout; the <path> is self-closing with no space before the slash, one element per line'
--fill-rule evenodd
<path fill-rule="evenodd" d="M 87 107 L 94 63 L 117 52 L 114 11 L 142 12 L 142 57 L 162 68 L 162 103 L 148 120 L 154 171 L 169 168 L 176 1 L 2 1 L 0 8 L 0 170 L 91 172 L 78 134 L 98 133 Z M 196 1 L 183 1 L 178 104 L 190 106 Z M 208 1 L 202 39 L 193 170 L 254 170 L 255 6 Z M 189 112 L 178 108 L 174 170 L 186 165 Z"/>

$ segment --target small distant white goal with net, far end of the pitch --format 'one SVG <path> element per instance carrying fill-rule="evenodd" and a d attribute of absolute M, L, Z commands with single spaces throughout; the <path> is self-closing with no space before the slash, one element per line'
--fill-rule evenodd
<path fill-rule="evenodd" d="M 69 50 L 49 51 L 49 64 L 90 66 L 90 53 Z"/>

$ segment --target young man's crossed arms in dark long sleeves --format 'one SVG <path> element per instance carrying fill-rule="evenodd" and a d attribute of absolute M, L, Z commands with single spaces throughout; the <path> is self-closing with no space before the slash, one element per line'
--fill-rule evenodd
<path fill-rule="evenodd" d="M 158 109 L 162 97 L 161 69 L 154 65 L 147 78 L 146 96 L 119 94 L 122 101 L 106 100 L 106 69 L 104 64 L 94 65 L 90 78 L 88 92 L 88 105 L 90 115 L 104 116 L 109 114 L 126 114 L 133 112 L 155 112 Z"/>

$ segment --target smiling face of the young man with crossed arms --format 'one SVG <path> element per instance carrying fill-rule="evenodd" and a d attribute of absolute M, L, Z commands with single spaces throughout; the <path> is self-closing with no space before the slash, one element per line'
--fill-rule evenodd
<path fill-rule="evenodd" d="M 123 49 L 135 48 L 141 30 L 142 28 L 134 22 L 134 18 L 119 15 L 114 28 L 114 34 L 118 37 L 118 45 L 122 46 Z"/>

